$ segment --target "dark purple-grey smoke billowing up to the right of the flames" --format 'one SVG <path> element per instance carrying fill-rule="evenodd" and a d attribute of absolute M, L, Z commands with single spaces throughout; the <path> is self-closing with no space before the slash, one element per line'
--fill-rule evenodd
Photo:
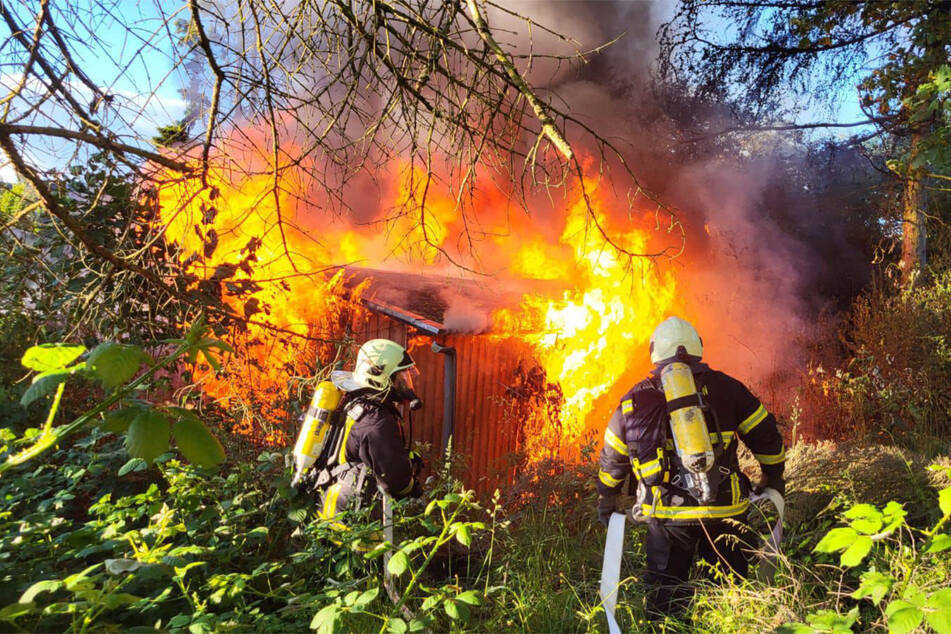
<path fill-rule="evenodd" d="M 855 282 L 843 284 L 843 274 L 859 283 L 868 276 L 867 255 L 846 235 L 848 220 L 823 208 L 831 177 L 815 169 L 804 144 L 778 135 L 684 143 L 733 122 L 726 104 L 654 83 L 655 34 L 670 9 L 664 3 L 519 8 L 581 49 L 619 38 L 583 67 L 559 69 L 546 88 L 600 134 L 620 139 L 638 178 L 678 208 L 686 250 L 660 266 L 674 270 L 678 310 L 700 331 L 709 363 L 764 389 L 795 380 L 818 310 L 857 290 Z M 522 41 L 529 41 L 524 32 Z M 539 50 L 545 43 L 532 39 L 536 53 L 547 52 Z M 552 52 L 565 51 L 559 41 Z M 542 77 L 536 71 L 532 79 Z M 578 131 L 568 132 L 577 143 Z M 620 192 L 630 185 L 617 169 L 611 180 Z"/>

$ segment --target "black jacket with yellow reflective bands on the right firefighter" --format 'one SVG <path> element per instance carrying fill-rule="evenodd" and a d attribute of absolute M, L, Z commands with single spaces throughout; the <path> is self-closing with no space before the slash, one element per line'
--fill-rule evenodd
<path fill-rule="evenodd" d="M 608 422 L 598 493 L 617 495 L 624 480 L 633 475 L 639 485 L 637 510 L 649 518 L 679 523 L 744 515 L 750 483 L 739 470 L 737 443 L 742 441 L 750 448 L 767 483 L 781 481 L 786 453 L 776 419 L 740 381 L 703 363 L 692 363 L 691 368 L 697 390 L 712 410 L 705 418 L 711 444 L 719 455 L 713 467 L 713 477 L 719 479 L 713 503 L 701 505 L 677 486 L 682 481 L 659 370 L 624 395 Z M 711 420 L 713 414 L 720 434 Z"/>

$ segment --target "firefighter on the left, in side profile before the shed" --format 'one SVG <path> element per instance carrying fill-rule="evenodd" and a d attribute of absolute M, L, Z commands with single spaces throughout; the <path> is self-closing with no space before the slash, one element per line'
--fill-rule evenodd
<path fill-rule="evenodd" d="M 317 476 L 319 517 L 372 499 L 375 490 L 395 498 L 419 497 L 419 460 L 410 457 L 398 405 L 421 406 L 413 392 L 415 362 L 403 346 L 371 339 L 360 347 L 352 375 L 339 373 L 335 383 L 346 393 L 340 405 L 346 414 L 337 455 Z"/>

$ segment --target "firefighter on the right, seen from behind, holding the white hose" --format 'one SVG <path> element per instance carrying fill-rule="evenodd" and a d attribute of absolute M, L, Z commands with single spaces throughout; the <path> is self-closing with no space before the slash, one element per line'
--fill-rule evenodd
<path fill-rule="evenodd" d="M 687 584 L 694 553 L 724 571 L 745 577 L 749 561 L 746 516 L 751 483 L 739 469 L 742 441 L 756 457 L 766 487 L 785 493 L 786 454 L 776 420 L 740 381 L 701 362 L 703 342 L 687 321 L 670 317 L 650 339 L 654 369 L 624 397 L 604 433 L 598 472 L 598 516 L 607 525 L 616 498 L 630 475 L 637 482 L 632 514 L 647 524 L 647 614 L 652 619 L 682 612 L 692 597 Z M 696 393 L 669 399 L 662 383 L 674 364 Z M 689 368 L 689 371 L 687 371 Z M 673 412 L 699 407 L 703 434 L 709 434 L 712 467 L 700 475 L 685 467 L 687 444 L 674 438 Z M 705 427 L 703 425 L 705 424 Z M 705 440 L 701 438 L 701 440 Z M 691 486 L 693 485 L 693 486 Z M 705 498 L 701 501 L 699 498 Z M 712 570 L 712 568 L 708 568 Z"/>

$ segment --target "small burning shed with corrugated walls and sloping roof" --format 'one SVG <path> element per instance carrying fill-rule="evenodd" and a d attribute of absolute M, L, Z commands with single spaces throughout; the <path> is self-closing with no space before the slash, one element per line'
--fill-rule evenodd
<path fill-rule="evenodd" d="M 539 399 L 557 398 L 531 350 L 493 332 L 491 311 L 520 295 L 476 282 L 431 275 L 349 269 L 362 285 L 367 316 L 353 337 L 386 338 L 407 347 L 425 403 L 410 433 L 433 456 L 451 447 L 468 457 L 464 480 L 491 490 L 511 473 Z"/>

